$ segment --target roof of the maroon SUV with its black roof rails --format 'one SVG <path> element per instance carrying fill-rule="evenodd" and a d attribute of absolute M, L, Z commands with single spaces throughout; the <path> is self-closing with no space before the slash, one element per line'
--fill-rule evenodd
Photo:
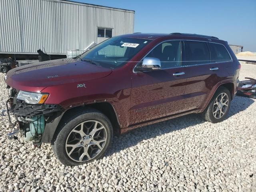
<path fill-rule="evenodd" d="M 133 33 L 133 34 L 126 34 L 123 35 L 126 37 L 131 38 L 142 38 L 142 39 L 151 39 L 155 40 L 159 37 L 175 37 L 175 38 L 184 38 L 184 37 L 194 37 L 194 38 L 207 38 L 207 39 L 216 39 L 219 40 L 219 38 L 214 36 L 206 36 L 206 35 L 198 35 L 198 34 L 186 34 L 186 33 Z"/>

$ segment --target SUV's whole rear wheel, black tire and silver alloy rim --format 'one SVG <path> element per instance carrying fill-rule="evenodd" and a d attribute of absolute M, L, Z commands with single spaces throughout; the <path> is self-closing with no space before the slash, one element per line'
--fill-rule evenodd
<path fill-rule="evenodd" d="M 206 121 L 218 123 L 223 121 L 230 108 L 231 95 L 227 88 L 220 87 L 212 97 L 207 108 L 202 112 Z"/>

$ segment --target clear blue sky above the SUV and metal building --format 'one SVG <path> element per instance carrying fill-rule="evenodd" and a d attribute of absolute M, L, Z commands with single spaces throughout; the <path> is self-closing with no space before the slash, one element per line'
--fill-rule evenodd
<path fill-rule="evenodd" d="M 74 0 L 135 10 L 134 32 L 217 36 L 256 52 L 256 0 Z"/>

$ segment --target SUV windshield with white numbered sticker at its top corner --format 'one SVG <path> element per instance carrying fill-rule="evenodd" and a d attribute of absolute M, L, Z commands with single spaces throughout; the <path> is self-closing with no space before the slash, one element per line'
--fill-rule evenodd
<path fill-rule="evenodd" d="M 106 68 L 118 68 L 132 59 L 150 41 L 117 36 L 98 44 L 77 59 Z"/>

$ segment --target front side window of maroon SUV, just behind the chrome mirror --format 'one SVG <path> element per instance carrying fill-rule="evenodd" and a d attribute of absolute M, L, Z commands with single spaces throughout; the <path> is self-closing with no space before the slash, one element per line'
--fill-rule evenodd
<path fill-rule="evenodd" d="M 146 57 L 160 59 L 161 68 L 180 66 L 180 41 L 168 41 L 161 43 Z"/>

